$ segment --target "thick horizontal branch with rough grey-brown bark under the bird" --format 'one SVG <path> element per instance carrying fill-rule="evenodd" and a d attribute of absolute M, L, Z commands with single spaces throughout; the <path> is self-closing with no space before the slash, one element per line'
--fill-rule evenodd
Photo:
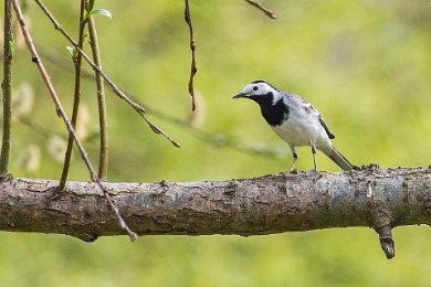
<path fill-rule="evenodd" d="M 83 241 L 125 234 L 95 183 L 69 182 L 65 192 L 57 192 L 57 184 L 6 179 L 0 183 L 0 230 L 60 233 Z M 431 224 L 430 168 L 370 166 L 344 173 L 104 184 L 139 235 L 259 235 L 369 226 L 393 247 L 391 227 Z"/>

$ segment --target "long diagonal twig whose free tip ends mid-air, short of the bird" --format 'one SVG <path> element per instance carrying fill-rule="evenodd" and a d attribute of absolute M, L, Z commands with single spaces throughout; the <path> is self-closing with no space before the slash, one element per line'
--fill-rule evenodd
<path fill-rule="evenodd" d="M 57 30 L 63 36 L 65 36 L 67 39 L 67 41 L 76 49 L 77 52 L 80 52 L 84 60 L 92 66 L 92 68 L 97 73 L 99 74 L 104 79 L 105 82 L 111 86 L 111 88 L 114 91 L 114 93 L 122 99 L 124 99 L 127 104 L 129 104 L 139 115 L 140 117 L 148 124 L 148 126 L 151 128 L 151 130 L 156 134 L 159 134 L 161 136 L 164 136 L 166 139 L 168 139 L 175 147 L 179 148 L 180 145 L 174 140 L 169 135 L 167 135 L 162 129 L 160 129 L 159 127 L 157 127 L 155 124 L 153 124 L 148 118 L 147 116 L 145 115 L 146 114 L 146 110 L 144 107 L 141 107 L 140 105 L 138 105 L 136 102 L 134 102 L 133 99 L 130 99 L 122 89 L 119 89 L 119 87 L 108 77 L 106 76 L 105 73 L 102 72 L 102 68 L 99 66 L 97 66 L 90 57 L 88 55 L 86 55 L 84 53 L 84 51 L 82 51 L 82 49 L 80 49 L 80 46 L 77 45 L 76 41 L 73 40 L 73 38 L 63 29 L 62 25 L 60 25 L 60 23 L 55 20 L 55 18 L 53 17 L 53 14 L 46 9 L 46 7 L 40 1 L 40 0 L 35 0 L 35 2 L 38 3 L 38 6 L 42 9 L 42 11 L 48 15 L 48 18 L 51 20 L 51 22 L 54 24 L 54 28 L 55 30 Z"/>

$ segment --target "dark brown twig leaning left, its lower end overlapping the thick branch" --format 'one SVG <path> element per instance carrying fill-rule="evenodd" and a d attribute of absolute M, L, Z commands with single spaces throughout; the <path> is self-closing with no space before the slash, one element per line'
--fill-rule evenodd
<path fill-rule="evenodd" d="M 80 24 L 78 24 L 78 41 L 77 45 L 82 49 L 84 46 L 84 31 L 85 31 L 85 2 L 86 0 L 81 0 L 80 9 Z M 80 111 L 80 102 L 81 102 L 81 67 L 82 67 L 82 54 L 72 55 L 73 64 L 75 66 L 75 89 L 73 95 L 73 110 L 72 110 L 72 126 L 76 127 L 77 115 Z M 73 150 L 73 136 L 69 134 L 66 152 L 64 155 L 63 171 L 60 178 L 59 190 L 64 190 L 66 185 L 69 168 L 71 166 Z"/>

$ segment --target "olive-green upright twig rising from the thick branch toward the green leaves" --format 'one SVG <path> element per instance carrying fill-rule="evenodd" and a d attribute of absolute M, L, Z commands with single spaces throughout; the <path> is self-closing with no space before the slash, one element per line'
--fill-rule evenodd
<path fill-rule="evenodd" d="M 94 17 L 88 19 L 90 46 L 93 52 L 94 63 L 102 68 L 101 52 Z M 101 148 L 98 157 L 98 178 L 106 179 L 108 169 L 108 131 L 106 115 L 105 84 L 101 74 L 95 73 L 97 85 L 98 126 L 101 130 Z"/>

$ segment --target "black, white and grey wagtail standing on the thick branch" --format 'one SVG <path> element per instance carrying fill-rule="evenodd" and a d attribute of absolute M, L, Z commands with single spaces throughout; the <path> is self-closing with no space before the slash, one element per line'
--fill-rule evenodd
<path fill-rule="evenodd" d="M 330 142 L 335 136 L 320 114 L 304 98 L 281 92 L 264 81 L 254 81 L 233 98 L 250 98 L 259 104 L 261 113 L 271 128 L 281 137 L 293 153 L 292 169 L 295 169 L 297 153 L 295 147 L 311 146 L 316 164 L 316 149 L 325 153 L 343 170 L 353 169 L 351 163 Z"/>

